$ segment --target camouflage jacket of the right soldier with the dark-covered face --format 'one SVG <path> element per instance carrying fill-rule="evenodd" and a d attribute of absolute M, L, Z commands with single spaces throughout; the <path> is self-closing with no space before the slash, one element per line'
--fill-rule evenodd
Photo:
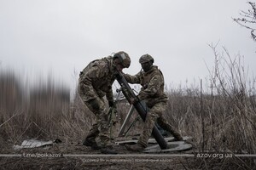
<path fill-rule="evenodd" d="M 160 102 L 167 102 L 168 97 L 164 93 L 165 81 L 162 72 L 153 65 L 148 72 L 140 71 L 135 76 L 125 74 L 129 83 L 139 83 L 141 88 L 138 98 L 145 100 L 149 108 Z"/>

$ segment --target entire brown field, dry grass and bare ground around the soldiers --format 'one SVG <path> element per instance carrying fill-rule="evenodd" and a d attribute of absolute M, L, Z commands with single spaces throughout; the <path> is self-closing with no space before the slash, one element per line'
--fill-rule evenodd
<path fill-rule="evenodd" d="M 94 116 L 78 95 L 70 102 L 68 88 L 56 86 L 50 80 L 27 92 L 14 72 L 1 71 L 0 168 L 255 169 L 255 79 L 248 80 L 240 58 L 230 59 L 227 52 L 226 55 L 224 58 L 215 54 L 216 65 L 201 83 L 185 88 L 166 86 L 169 103 L 165 116 L 183 136 L 193 138 L 189 141 L 193 150 L 166 155 L 195 156 L 134 155 L 123 146 L 115 146 L 119 150 L 117 156 L 102 156 L 99 151 L 81 144 Z M 113 129 L 113 136 L 117 136 L 129 108 L 125 103 L 118 105 L 119 123 Z M 132 127 L 131 135 L 140 132 L 140 125 L 141 122 L 137 122 Z M 61 143 L 13 150 L 13 146 L 24 139 L 60 139 Z M 70 156 L 79 154 L 87 156 Z M 209 154 L 215 155 L 209 157 Z"/>

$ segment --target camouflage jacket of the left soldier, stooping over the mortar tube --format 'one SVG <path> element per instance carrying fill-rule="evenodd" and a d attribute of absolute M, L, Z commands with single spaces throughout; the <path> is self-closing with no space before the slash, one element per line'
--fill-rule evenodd
<path fill-rule="evenodd" d="M 79 75 L 80 94 L 85 99 L 96 99 L 106 95 L 108 101 L 113 101 L 112 84 L 114 82 L 113 57 L 109 56 L 90 62 Z"/>

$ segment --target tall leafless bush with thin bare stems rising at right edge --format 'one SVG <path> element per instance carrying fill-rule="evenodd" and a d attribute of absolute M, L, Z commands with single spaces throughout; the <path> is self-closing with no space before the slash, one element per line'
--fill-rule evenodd
<path fill-rule="evenodd" d="M 255 77 L 248 77 L 241 55 L 234 59 L 223 48 L 218 53 L 212 46 L 215 65 L 210 71 L 211 94 L 203 96 L 205 135 L 197 138 L 200 149 L 227 151 L 231 153 L 253 154 L 256 151 L 255 122 Z M 224 161 L 227 165 L 230 161 Z M 234 159 L 232 163 L 246 168 L 253 166 L 253 159 L 247 162 Z M 247 167 L 247 165 L 249 165 Z"/>

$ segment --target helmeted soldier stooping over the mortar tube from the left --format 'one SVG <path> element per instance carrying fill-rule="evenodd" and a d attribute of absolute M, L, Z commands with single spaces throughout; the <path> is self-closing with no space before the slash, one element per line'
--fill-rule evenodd
<path fill-rule="evenodd" d="M 112 56 L 91 61 L 79 75 L 79 95 L 84 104 L 96 116 L 96 122 L 90 128 L 83 144 L 94 150 L 101 149 L 103 154 L 116 154 L 109 138 L 108 111 L 103 97 L 108 99 L 109 107 L 114 107 L 112 84 L 116 71 L 128 68 L 131 59 L 128 54 L 120 51 Z M 102 147 L 96 144 L 96 137 Z"/>

